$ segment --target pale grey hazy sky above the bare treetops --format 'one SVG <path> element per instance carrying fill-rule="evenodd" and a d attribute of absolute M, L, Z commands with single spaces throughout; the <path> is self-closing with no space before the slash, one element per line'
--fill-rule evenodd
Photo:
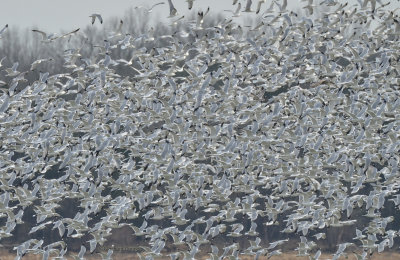
<path fill-rule="evenodd" d="M 167 0 L 1 0 L 0 28 L 8 23 L 10 28 L 36 28 L 49 33 L 67 31 L 90 25 L 88 16 L 92 13 L 100 13 L 104 18 L 104 23 L 107 23 L 111 17 L 123 17 L 129 8 L 139 5 L 151 6 L 160 1 L 166 4 L 154 8 L 150 15 L 167 20 L 169 12 Z M 239 1 L 244 7 L 246 0 Z M 267 4 L 270 1 L 267 0 Z M 314 0 L 314 2 L 320 1 Z M 383 0 L 383 2 L 387 1 Z M 258 0 L 253 0 L 253 9 L 256 8 L 257 2 Z M 305 5 L 305 2 L 300 0 L 288 0 L 288 2 L 290 8 Z M 354 4 L 356 0 L 349 2 Z M 186 0 L 173 0 L 173 3 L 180 15 L 187 14 Z M 234 8 L 232 0 L 196 0 L 192 11 L 205 10 L 208 6 L 214 12 Z M 397 3 L 398 6 L 400 6 L 399 3 Z M 265 8 L 266 5 L 264 5 Z M 226 14 L 229 15 L 228 12 Z"/>

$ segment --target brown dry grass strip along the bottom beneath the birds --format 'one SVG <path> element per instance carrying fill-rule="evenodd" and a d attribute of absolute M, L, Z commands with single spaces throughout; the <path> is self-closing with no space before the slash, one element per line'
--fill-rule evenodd
<path fill-rule="evenodd" d="M 95 259 L 101 259 L 99 254 L 93 254 L 93 255 L 88 255 L 85 257 L 87 260 L 95 260 Z M 204 255 L 202 257 L 199 257 L 197 259 L 201 259 L 201 260 L 206 260 L 208 259 L 208 255 Z M 1 250 L 0 251 L 0 260 L 14 260 L 15 259 L 15 254 L 8 252 L 7 250 Z M 41 260 L 42 256 L 41 255 L 25 255 L 23 258 L 23 260 Z M 67 259 L 73 259 L 72 257 L 67 257 Z M 137 254 L 132 254 L 132 253 L 114 253 L 113 254 L 113 259 L 117 259 L 117 260 L 136 260 L 139 259 Z M 165 257 L 160 257 L 158 259 L 169 259 L 169 256 L 165 256 Z M 240 257 L 240 259 L 242 260 L 251 260 L 254 259 L 253 256 L 244 256 L 244 257 Z M 267 259 L 267 257 L 264 258 L 260 258 L 260 259 Z M 279 256 L 273 256 L 270 258 L 271 260 L 309 260 L 308 257 L 298 257 L 296 256 L 295 253 L 286 253 L 286 254 L 282 254 Z M 329 254 L 323 254 L 321 255 L 321 257 L 319 258 L 320 260 L 327 260 L 327 259 L 332 259 L 332 255 Z M 349 254 L 347 257 L 341 257 L 341 260 L 356 260 L 356 257 L 353 254 Z M 371 258 L 369 258 L 370 260 L 399 260 L 400 259 L 400 253 L 395 253 L 395 252 L 384 252 L 381 254 L 378 253 L 374 253 L 372 255 Z"/>

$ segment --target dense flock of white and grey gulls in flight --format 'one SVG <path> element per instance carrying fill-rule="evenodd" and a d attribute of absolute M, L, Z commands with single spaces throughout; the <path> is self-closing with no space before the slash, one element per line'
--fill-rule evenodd
<path fill-rule="evenodd" d="M 112 259 L 101 248 L 122 227 L 143 239 L 146 260 L 274 258 L 288 247 L 317 260 L 340 227 L 353 237 L 330 259 L 395 250 L 385 210 L 400 205 L 400 18 L 383 1 L 358 2 L 309 0 L 300 14 L 287 0 L 234 0 L 216 26 L 196 10 L 173 35 L 131 35 L 121 22 L 94 57 L 68 49 L 64 73 L 34 82 L 18 61 L 2 64 L 0 241 L 29 208 L 16 259 Z M 257 24 L 236 22 L 242 12 Z M 34 32 L 43 44 L 81 33 Z M 119 48 L 130 60 L 113 56 Z M 78 201 L 73 217 L 61 214 L 67 199 Z M 265 241 L 274 227 L 285 239 Z"/>

